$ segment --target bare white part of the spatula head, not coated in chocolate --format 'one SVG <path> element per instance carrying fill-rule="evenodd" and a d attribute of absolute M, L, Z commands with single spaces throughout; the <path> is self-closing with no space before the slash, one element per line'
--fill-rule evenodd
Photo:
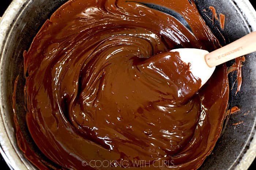
<path fill-rule="evenodd" d="M 171 52 L 179 52 L 181 60 L 186 64 L 191 64 L 190 71 L 193 76 L 201 79 L 201 87 L 208 81 L 208 79 L 210 79 L 215 70 L 215 67 L 210 68 L 206 64 L 204 56 L 209 54 L 206 50 L 196 48 L 179 48 L 174 49 Z"/>

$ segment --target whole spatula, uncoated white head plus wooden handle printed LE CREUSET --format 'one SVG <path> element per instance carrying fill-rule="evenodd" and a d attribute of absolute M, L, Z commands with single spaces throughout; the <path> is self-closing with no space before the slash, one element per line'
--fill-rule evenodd
<path fill-rule="evenodd" d="M 256 31 L 209 53 L 206 50 L 195 48 L 174 49 L 171 52 L 179 52 L 181 60 L 190 63 L 192 74 L 202 80 L 201 87 L 207 82 L 215 70 L 215 66 L 229 60 L 256 51 Z"/>

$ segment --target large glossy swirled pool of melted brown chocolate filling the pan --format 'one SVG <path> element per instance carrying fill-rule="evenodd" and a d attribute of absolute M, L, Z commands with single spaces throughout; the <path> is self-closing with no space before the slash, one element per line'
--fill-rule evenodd
<path fill-rule="evenodd" d="M 63 168 L 102 169 L 95 160 L 108 160 L 125 161 L 109 169 L 152 169 L 154 161 L 165 161 L 163 169 L 196 169 L 221 134 L 226 66 L 195 94 L 200 79 L 169 52 L 212 51 L 218 40 L 193 2 L 140 2 L 68 1 L 24 53 L 27 127 L 42 153 Z M 193 33 L 142 3 L 182 14 Z"/>

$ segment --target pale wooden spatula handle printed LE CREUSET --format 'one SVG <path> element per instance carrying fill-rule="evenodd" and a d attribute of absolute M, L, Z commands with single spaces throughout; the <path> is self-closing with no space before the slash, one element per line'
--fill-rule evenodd
<path fill-rule="evenodd" d="M 229 60 L 256 51 L 256 31 L 205 55 L 209 67 L 218 66 Z"/>

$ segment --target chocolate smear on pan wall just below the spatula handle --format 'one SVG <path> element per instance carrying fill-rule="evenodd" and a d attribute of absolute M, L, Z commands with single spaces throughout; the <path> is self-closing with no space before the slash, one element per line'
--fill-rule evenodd
<path fill-rule="evenodd" d="M 236 78 L 237 91 L 236 91 L 236 94 L 240 91 L 241 86 L 242 86 L 242 66 L 243 66 L 242 62 L 245 62 L 245 57 L 244 56 L 236 58 L 236 62 L 234 62 L 234 64 L 231 67 L 229 67 L 228 71 L 227 71 L 228 74 L 231 73 L 231 72 L 237 71 L 237 78 Z M 231 90 L 234 88 L 234 85 L 235 85 L 236 81 L 232 85 Z"/>

